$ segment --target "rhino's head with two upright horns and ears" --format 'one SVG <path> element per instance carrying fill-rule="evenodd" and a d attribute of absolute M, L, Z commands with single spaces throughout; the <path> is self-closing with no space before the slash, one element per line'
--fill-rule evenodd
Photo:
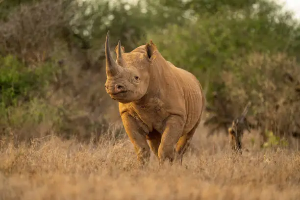
<path fill-rule="evenodd" d="M 143 46 L 141 46 L 143 47 Z M 105 41 L 106 82 L 105 90 L 110 98 L 121 103 L 140 100 L 148 91 L 150 82 L 150 45 L 125 53 L 119 41 L 116 61 L 109 49 L 109 31 Z M 144 50 L 143 50 L 144 49 Z"/>

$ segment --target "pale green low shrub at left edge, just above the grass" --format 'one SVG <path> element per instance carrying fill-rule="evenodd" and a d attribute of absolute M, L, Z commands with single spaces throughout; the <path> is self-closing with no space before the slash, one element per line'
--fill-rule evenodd
<path fill-rule="evenodd" d="M 61 124 L 59 109 L 45 100 L 32 99 L 0 112 L 0 135 L 17 141 L 44 137 Z"/>

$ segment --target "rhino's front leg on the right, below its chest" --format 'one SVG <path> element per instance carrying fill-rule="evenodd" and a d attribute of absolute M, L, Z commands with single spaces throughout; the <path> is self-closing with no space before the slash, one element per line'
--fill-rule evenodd
<path fill-rule="evenodd" d="M 169 159 L 171 164 L 175 159 L 180 159 L 176 152 L 176 143 L 182 136 L 183 126 L 183 119 L 177 115 L 171 115 L 166 120 L 165 129 L 158 148 L 160 164 L 166 159 Z"/>

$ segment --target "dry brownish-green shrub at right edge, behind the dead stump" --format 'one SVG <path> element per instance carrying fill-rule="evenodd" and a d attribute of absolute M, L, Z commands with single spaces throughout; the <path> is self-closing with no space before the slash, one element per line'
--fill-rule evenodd
<path fill-rule="evenodd" d="M 238 110 L 251 101 L 250 115 L 265 139 L 265 130 L 275 136 L 300 131 L 300 68 L 293 57 L 253 53 L 228 65 L 232 70 L 223 73 L 226 93 Z"/>

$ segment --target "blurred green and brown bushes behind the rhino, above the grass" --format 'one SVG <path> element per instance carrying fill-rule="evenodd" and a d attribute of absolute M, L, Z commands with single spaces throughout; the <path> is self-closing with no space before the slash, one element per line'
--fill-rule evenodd
<path fill-rule="evenodd" d="M 104 90 L 108 30 L 111 48 L 152 39 L 198 77 L 208 135 L 251 101 L 247 120 L 264 138 L 300 136 L 300 25 L 270 0 L 0 0 L 0 135 L 124 134 Z"/>

